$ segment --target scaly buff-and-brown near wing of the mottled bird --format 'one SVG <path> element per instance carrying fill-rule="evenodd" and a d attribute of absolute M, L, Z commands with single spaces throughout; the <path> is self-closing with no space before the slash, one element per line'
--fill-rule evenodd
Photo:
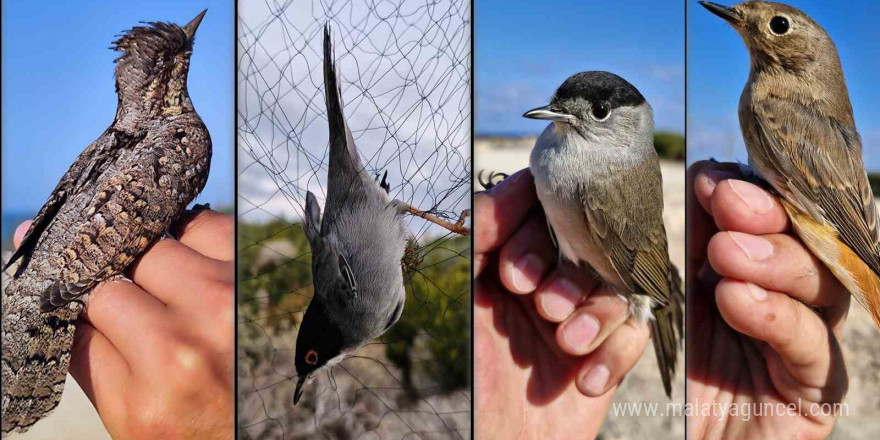
<path fill-rule="evenodd" d="M 147 152 L 101 181 L 73 240 L 54 256 L 60 277 L 43 294 L 44 310 L 67 304 L 120 274 L 186 207 L 187 202 L 172 196 L 185 192 L 180 186 L 184 179 L 163 176 L 161 153 L 137 148 Z"/>

